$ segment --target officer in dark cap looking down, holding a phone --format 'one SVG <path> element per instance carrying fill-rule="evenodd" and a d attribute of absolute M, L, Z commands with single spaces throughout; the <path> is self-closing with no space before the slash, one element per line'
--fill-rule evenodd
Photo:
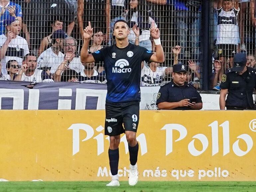
<path fill-rule="evenodd" d="M 202 99 L 196 89 L 186 82 L 188 68 L 184 64 L 173 65 L 173 80 L 159 89 L 158 109 L 202 109 Z"/>

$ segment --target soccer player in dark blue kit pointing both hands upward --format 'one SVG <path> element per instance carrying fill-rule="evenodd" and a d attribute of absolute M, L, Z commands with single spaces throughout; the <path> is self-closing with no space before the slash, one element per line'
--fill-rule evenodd
<path fill-rule="evenodd" d="M 83 31 L 81 62 L 104 62 L 107 79 L 105 135 L 110 136 L 108 150 L 112 181 L 107 186 L 119 186 L 117 175 L 119 161 L 120 134 L 125 133 L 129 145 L 130 172 L 129 185 L 138 182 L 137 157 L 139 145 L 136 132 L 139 123 L 141 62 L 164 62 L 164 51 L 160 42 L 159 29 L 151 28 L 156 53 L 128 42 L 129 27 L 124 20 L 114 24 L 113 35 L 116 44 L 88 53 L 88 45 L 93 35 L 89 22 Z M 123 127 L 124 126 L 124 127 Z"/>

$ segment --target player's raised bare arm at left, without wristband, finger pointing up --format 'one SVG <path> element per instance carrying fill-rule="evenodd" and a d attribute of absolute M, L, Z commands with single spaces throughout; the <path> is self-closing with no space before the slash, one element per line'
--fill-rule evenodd
<path fill-rule="evenodd" d="M 88 46 L 92 35 L 93 28 L 91 28 L 91 22 L 89 22 L 89 26 L 87 26 L 83 30 L 83 47 L 81 48 L 81 63 L 95 62 L 92 54 L 88 53 Z"/>

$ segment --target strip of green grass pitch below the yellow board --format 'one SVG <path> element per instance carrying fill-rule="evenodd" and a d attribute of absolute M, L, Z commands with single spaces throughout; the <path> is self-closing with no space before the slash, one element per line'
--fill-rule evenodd
<path fill-rule="evenodd" d="M 129 186 L 127 181 L 120 182 L 120 187 L 106 187 L 107 182 L 1 182 L 0 191 L 5 192 L 80 192 L 80 191 L 104 191 L 104 192 L 218 192 L 218 191 L 232 191 L 232 192 L 255 192 L 256 182 L 151 182 L 139 181 L 136 186 Z"/>

